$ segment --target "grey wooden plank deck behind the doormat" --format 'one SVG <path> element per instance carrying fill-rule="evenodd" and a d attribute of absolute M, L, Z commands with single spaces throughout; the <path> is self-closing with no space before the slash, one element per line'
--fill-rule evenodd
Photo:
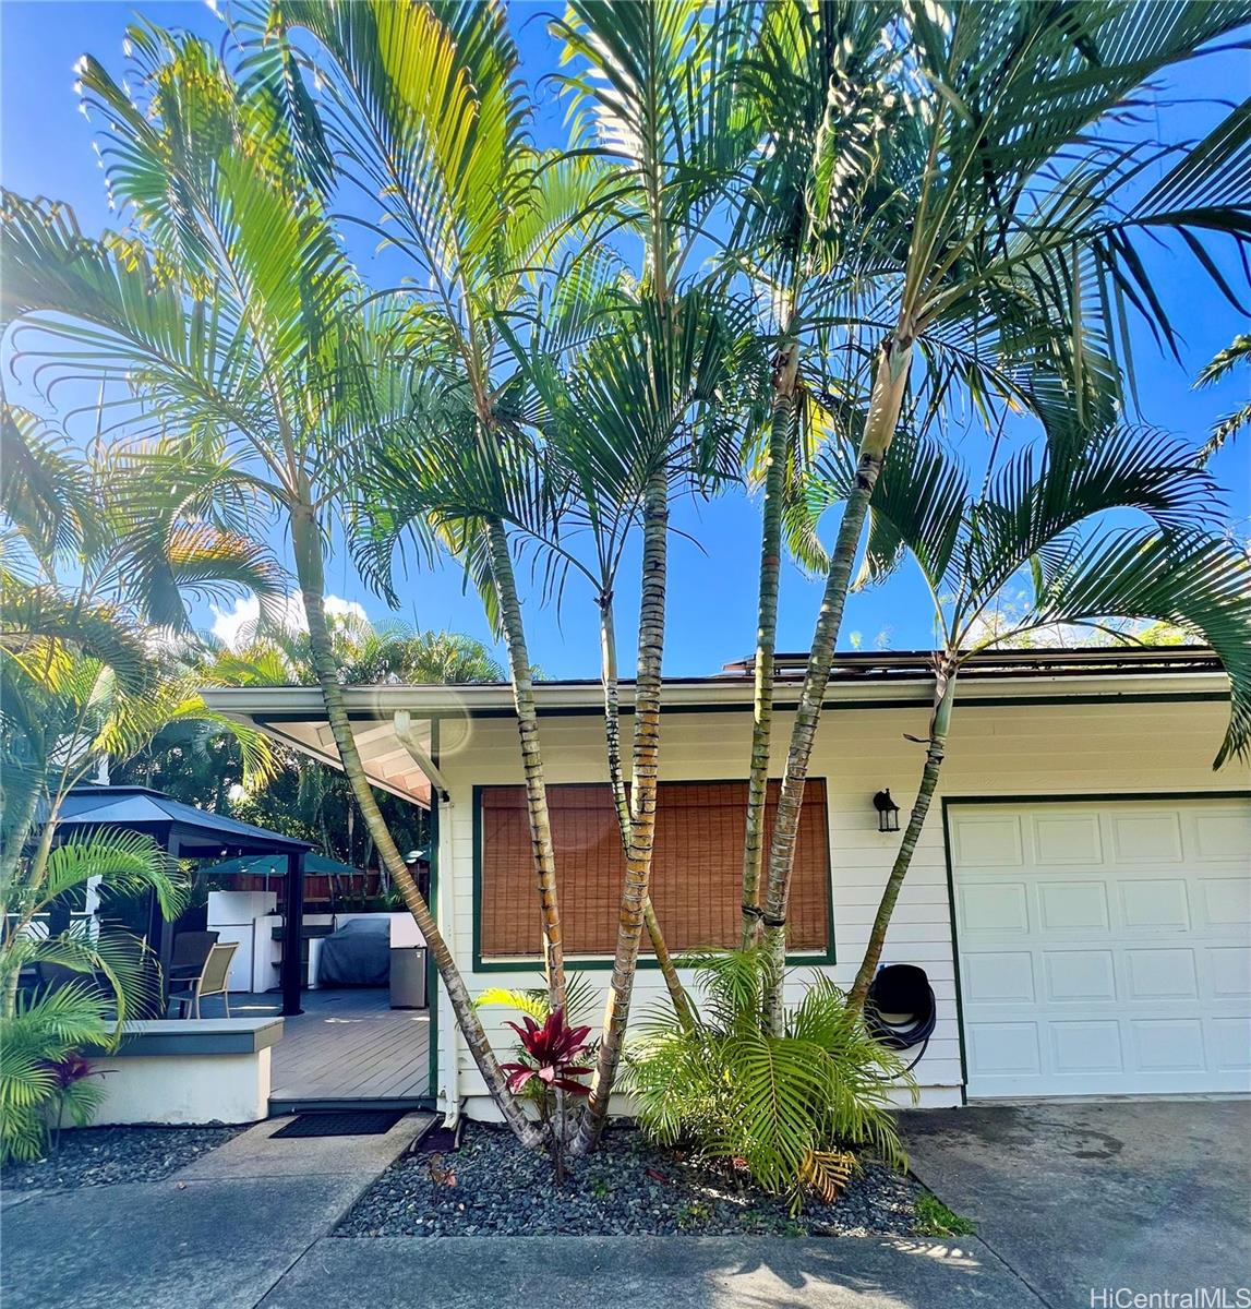
<path fill-rule="evenodd" d="M 271 1111 L 429 1094 L 431 1014 L 393 1009 L 386 990 L 305 991 L 273 1047 Z M 232 996 L 232 1013 L 277 1013 L 277 995 Z"/>

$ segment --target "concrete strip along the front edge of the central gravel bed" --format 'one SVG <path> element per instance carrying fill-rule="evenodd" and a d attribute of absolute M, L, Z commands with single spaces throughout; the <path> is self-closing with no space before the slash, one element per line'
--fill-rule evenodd
<path fill-rule="evenodd" d="M 453 1237 L 318 1241 L 263 1309 L 1044 1309 L 979 1241 Z"/>

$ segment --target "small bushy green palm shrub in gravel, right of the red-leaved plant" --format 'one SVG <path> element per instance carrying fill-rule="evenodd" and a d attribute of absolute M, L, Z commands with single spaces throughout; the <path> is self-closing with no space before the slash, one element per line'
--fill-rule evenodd
<path fill-rule="evenodd" d="M 699 1021 L 684 1029 L 666 1004 L 627 1055 L 624 1089 L 639 1126 L 662 1145 L 746 1166 L 798 1211 L 815 1191 L 832 1200 L 860 1166 L 857 1149 L 907 1160 L 890 1093 L 916 1083 L 869 1035 L 834 983 L 817 975 L 786 1011 L 783 1035 L 762 1029 L 766 959 L 759 948 L 688 957 Z"/>

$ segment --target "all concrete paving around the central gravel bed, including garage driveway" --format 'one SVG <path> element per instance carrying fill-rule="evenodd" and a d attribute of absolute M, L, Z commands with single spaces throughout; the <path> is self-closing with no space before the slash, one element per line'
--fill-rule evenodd
<path fill-rule="evenodd" d="M 425 1121 L 272 1121 L 165 1182 L 5 1196 L 4 1309 L 1089 1309 L 1120 1287 L 1238 1304 L 1251 1268 L 1247 1101 L 907 1115 L 915 1170 L 979 1224 L 959 1241 L 331 1236 Z"/>

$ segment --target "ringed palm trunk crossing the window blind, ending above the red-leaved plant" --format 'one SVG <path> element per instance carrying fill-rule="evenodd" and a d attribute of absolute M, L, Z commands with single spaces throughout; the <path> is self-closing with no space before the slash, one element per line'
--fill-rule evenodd
<path fill-rule="evenodd" d="M 485 525 L 487 548 L 491 554 L 491 576 L 500 602 L 500 623 L 508 644 L 508 662 L 513 678 L 513 703 L 517 706 L 517 732 L 521 736 L 521 762 L 526 778 L 526 808 L 530 814 L 530 850 L 539 882 L 539 906 L 543 915 L 543 973 L 547 978 L 548 1001 L 554 1009 L 565 1003 L 565 958 L 560 939 L 560 903 L 556 897 L 556 853 L 552 848 L 552 823 L 547 810 L 547 787 L 543 781 L 543 754 L 539 747 L 539 715 L 534 704 L 534 682 L 530 678 L 530 652 L 517 598 L 517 579 L 508 534 L 499 518 Z"/>

